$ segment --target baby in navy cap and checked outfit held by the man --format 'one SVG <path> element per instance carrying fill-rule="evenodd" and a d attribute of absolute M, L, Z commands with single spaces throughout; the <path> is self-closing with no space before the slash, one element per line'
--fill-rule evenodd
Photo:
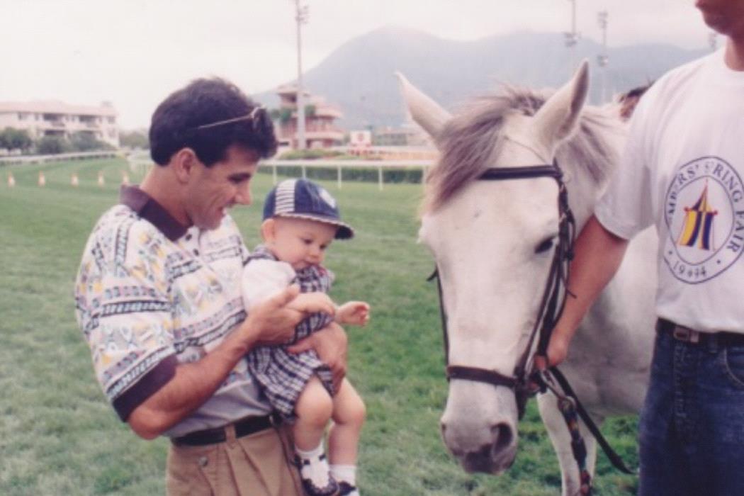
<path fill-rule="evenodd" d="M 251 306 L 289 284 L 300 285 L 299 298 L 325 298 L 333 273 L 324 268 L 333 239 L 353 237 L 341 222 L 336 200 L 305 179 L 281 181 L 266 197 L 261 237 L 243 271 L 243 300 Z M 364 326 L 369 305 L 350 301 L 336 314 L 314 314 L 295 329 L 293 344 L 330 322 Z M 314 351 L 292 355 L 285 346 L 259 347 L 248 353 L 248 367 L 280 416 L 292 423 L 295 461 L 310 496 L 352 495 L 356 489 L 356 453 L 365 419 L 365 405 L 347 379 L 334 390 L 330 369 Z M 330 466 L 323 451 L 329 419 Z"/>

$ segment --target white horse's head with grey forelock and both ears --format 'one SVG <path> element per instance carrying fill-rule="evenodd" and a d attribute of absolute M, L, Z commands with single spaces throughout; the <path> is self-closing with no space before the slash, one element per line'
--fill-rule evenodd
<path fill-rule="evenodd" d="M 583 224 L 615 161 L 617 146 L 600 129 L 617 117 L 584 108 L 586 62 L 551 97 L 505 88 L 456 115 L 398 77 L 412 117 L 440 151 L 426 178 L 419 239 L 440 277 L 449 364 L 514 376 L 535 349 L 530 335 L 559 235 L 559 184 L 477 179 L 490 168 L 555 159 Z M 443 440 L 466 471 L 498 474 L 516 456 L 517 410 L 513 388 L 451 378 Z"/>

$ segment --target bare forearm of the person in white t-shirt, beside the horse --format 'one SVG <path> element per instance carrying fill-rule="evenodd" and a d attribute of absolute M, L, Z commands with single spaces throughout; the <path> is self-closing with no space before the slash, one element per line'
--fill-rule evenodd
<path fill-rule="evenodd" d="M 576 329 L 586 312 L 607 283 L 618 271 L 623 261 L 628 240 L 608 231 L 591 216 L 574 244 L 574 260 L 571 262 L 571 279 L 563 313 L 556 323 L 548 343 L 548 366 L 560 364 L 568 354 Z M 536 361 L 538 367 L 544 361 Z"/>

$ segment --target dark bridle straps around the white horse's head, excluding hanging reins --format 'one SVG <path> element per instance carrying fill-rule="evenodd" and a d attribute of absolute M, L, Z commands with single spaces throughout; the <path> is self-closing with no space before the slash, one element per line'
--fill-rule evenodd
<path fill-rule="evenodd" d="M 493 386 L 504 386 L 513 389 L 519 408 L 519 417 L 522 418 L 525 410 L 527 397 L 534 392 L 530 387 L 530 375 L 532 372 L 533 347 L 537 341 L 537 353 L 545 355 L 550 340 L 553 326 L 558 320 L 565 298 L 568 294 L 568 263 L 573 258 L 573 245 L 575 223 L 571 208 L 568 207 L 568 192 L 563 183 L 563 173 L 554 161 L 552 165 L 533 165 L 526 167 L 491 167 L 478 176 L 479 181 L 509 181 L 516 179 L 554 178 L 558 183 L 558 213 L 559 232 L 555 247 L 553 261 L 551 263 L 548 281 L 542 293 L 539 310 L 530 339 L 525 351 L 516 364 L 511 376 L 499 373 L 497 370 L 483 369 L 479 367 L 467 367 L 464 365 L 449 364 L 449 336 L 447 333 L 447 320 L 444 310 L 442 286 L 439 280 L 438 268 L 429 277 L 436 278 L 437 289 L 440 297 L 440 317 L 444 334 L 445 363 L 447 380 L 461 379 L 466 381 L 484 382 Z"/>

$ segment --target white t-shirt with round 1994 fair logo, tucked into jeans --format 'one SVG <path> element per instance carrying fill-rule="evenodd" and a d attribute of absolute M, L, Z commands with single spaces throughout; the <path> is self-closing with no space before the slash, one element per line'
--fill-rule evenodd
<path fill-rule="evenodd" d="M 657 313 L 744 333 L 744 71 L 724 51 L 676 68 L 641 98 L 595 215 L 630 239 L 659 236 Z"/>

